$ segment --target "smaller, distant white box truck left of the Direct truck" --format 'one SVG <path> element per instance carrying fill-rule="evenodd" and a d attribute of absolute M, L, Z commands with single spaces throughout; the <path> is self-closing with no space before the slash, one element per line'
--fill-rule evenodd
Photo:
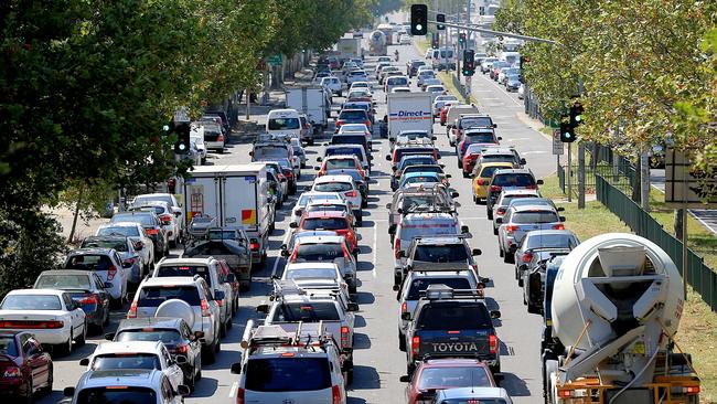
<path fill-rule="evenodd" d="M 327 128 L 329 115 L 331 114 L 331 96 L 323 86 L 286 87 L 285 94 L 287 108 L 296 109 L 299 114 L 306 114 L 311 125 L 313 125 L 314 132 L 317 130 L 323 131 Z M 309 142 L 313 142 L 313 138 Z"/>

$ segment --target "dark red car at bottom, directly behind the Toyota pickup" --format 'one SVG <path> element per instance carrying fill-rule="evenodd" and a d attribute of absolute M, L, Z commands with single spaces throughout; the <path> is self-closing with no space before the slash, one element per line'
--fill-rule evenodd
<path fill-rule="evenodd" d="M 407 404 L 431 403 L 437 390 L 497 386 L 488 364 L 478 359 L 429 359 L 400 381 L 408 383 Z"/>

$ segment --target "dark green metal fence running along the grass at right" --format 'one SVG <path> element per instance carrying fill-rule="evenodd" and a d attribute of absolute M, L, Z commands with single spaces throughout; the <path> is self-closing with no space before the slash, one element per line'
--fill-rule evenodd
<path fill-rule="evenodd" d="M 598 201 L 620 217 L 635 234 L 651 240 L 664 249 L 677 265 L 679 274 L 683 274 L 682 242 L 667 233 L 650 213 L 610 184 L 601 174 L 596 176 L 596 185 Z M 687 283 L 711 310 L 717 312 L 717 273 L 705 265 L 703 258 L 692 249 L 687 256 Z"/>

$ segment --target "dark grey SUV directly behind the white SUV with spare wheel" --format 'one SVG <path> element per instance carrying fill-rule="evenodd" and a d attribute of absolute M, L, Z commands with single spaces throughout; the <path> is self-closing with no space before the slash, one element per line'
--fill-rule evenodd
<path fill-rule="evenodd" d="M 150 317 L 141 319 L 125 319 L 119 322 L 117 331 L 105 334 L 105 339 L 114 342 L 161 341 L 167 350 L 176 358 L 182 355 L 186 361 L 179 360 L 184 373 L 184 382 L 194 390 L 195 382 L 202 378 L 202 342 L 204 332 L 192 332 L 192 329 L 181 318 Z"/>

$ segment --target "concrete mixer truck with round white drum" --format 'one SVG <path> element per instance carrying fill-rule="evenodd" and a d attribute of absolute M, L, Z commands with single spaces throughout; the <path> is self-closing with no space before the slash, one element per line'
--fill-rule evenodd
<path fill-rule="evenodd" d="M 699 402 L 692 359 L 673 340 L 682 277 L 657 245 L 603 234 L 572 249 L 546 279 L 546 403 Z"/>

